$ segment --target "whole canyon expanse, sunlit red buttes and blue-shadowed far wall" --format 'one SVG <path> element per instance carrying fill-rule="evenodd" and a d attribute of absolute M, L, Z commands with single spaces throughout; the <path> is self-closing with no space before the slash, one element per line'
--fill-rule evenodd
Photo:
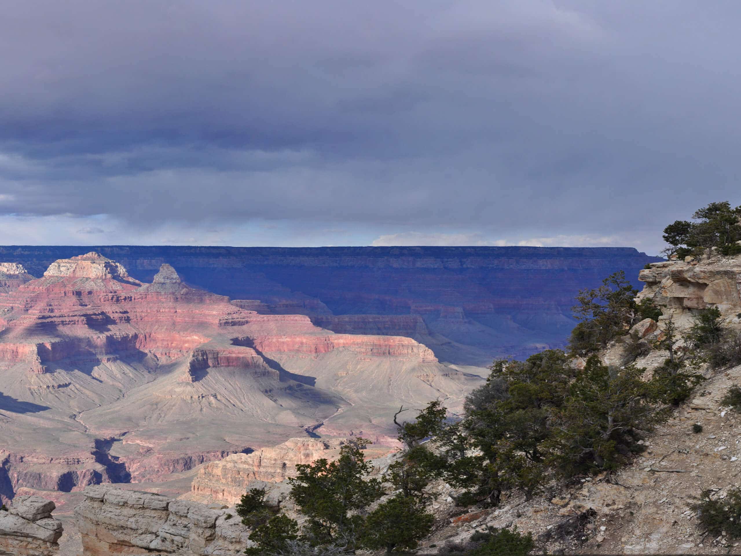
<path fill-rule="evenodd" d="M 388 466 L 399 406 L 439 398 L 455 417 L 494 357 L 564 344 L 579 288 L 657 260 L 622 248 L 100 251 L 0 248 L 4 503 L 40 494 L 69 517 L 102 502 L 81 498 L 86 487 L 136 483 L 233 505 L 358 436 Z"/>

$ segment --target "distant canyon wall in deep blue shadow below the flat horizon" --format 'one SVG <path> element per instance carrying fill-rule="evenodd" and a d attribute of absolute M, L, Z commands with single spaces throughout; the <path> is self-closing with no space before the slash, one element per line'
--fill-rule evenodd
<path fill-rule="evenodd" d="M 305 314 L 344 334 L 412 337 L 441 361 L 471 365 L 563 345 L 579 288 L 617 270 L 634 279 L 659 260 L 632 248 L 7 246 L 0 261 L 41 276 L 90 249 L 144 282 L 167 262 L 243 308 Z"/>

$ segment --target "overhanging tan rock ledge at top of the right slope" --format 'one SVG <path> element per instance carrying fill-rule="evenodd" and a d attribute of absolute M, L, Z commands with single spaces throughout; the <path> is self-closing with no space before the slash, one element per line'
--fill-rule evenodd
<path fill-rule="evenodd" d="M 729 325 L 741 325 L 741 257 L 657 262 L 640 271 L 639 280 L 645 282 L 639 299 L 653 299 L 662 320 L 671 318 L 680 329 L 708 307 L 717 307 Z"/>

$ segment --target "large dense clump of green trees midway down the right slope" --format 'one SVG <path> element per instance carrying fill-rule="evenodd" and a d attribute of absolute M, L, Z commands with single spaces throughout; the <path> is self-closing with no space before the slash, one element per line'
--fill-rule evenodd
<path fill-rule="evenodd" d="M 511 489 L 530 498 L 554 472 L 617 469 L 642 450 L 642 432 L 665 420 L 665 400 L 695 380 L 676 372 L 644 381 L 645 369 L 608 368 L 596 356 L 576 371 L 559 350 L 496 361 L 491 371 L 466 400 L 465 419 L 437 438 L 442 455 L 431 472 L 467 489 L 462 505 L 496 506 Z"/>

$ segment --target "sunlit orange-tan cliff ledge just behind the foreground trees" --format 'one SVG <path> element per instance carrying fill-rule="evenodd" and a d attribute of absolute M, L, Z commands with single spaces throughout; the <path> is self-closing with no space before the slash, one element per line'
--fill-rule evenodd
<path fill-rule="evenodd" d="M 279 483 L 296 477 L 296 466 L 319 459 L 336 460 L 344 439 L 291 438 L 285 443 L 262 448 L 251 454 L 232 454 L 199 469 L 190 487 L 193 500 L 223 500 L 236 504 L 256 482 Z M 365 449 L 366 460 L 396 451 L 388 446 L 371 445 Z"/>

